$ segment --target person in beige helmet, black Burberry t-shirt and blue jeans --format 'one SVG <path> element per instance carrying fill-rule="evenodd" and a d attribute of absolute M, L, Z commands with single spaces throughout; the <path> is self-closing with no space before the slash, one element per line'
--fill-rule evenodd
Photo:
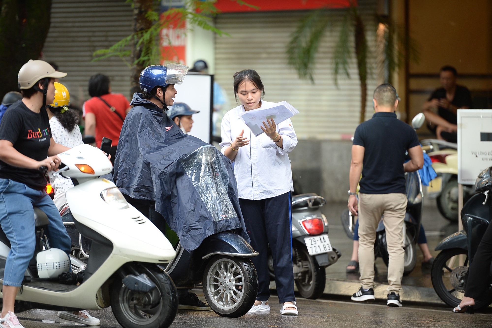
<path fill-rule="evenodd" d="M 56 154 L 69 149 L 53 140 L 45 109 L 55 97 L 55 78 L 65 75 L 44 61 L 31 60 L 22 66 L 18 82 L 23 98 L 5 112 L 0 124 L 0 225 L 11 244 L 0 315 L 5 328 L 23 328 L 14 314 L 14 302 L 36 244 L 33 206 L 49 218 L 51 246 L 70 253 L 70 237 L 44 190 L 46 179 L 39 170 L 41 166 L 57 170 L 61 161 Z"/>

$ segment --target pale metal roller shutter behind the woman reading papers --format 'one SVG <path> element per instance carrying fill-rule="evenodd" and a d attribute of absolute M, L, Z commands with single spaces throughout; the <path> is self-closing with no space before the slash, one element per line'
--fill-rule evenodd
<path fill-rule="evenodd" d="M 364 14 L 369 48 L 373 49 L 376 1 L 359 0 L 358 3 Z M 285 55 L 290 34 L 306 14 L 305 11 L 218 15 L 216 27 L 231 37 L 215 36 L 215 79 L 226 90 L 231 107 L 235 104 L 233 74 L 252 68 L 262 77 L 265 100 L 286 100 L 300 111 L 292 119 L 300 139 L 339 140 L 352 135 L 359 123 L 360 83 L 355 55 L 352 55 L 351 78 L 339 75 L 339 87 L 334 84 L 332 50 L 337 42 L 343 11 L 334 12 L 332 32 L 326 33 L 317 55 L 315 84 L 299 79 L 297 73 L 287 66 Z M 375 67 L 373 57 L 369 59 L 369 64 Z M 374 73 L 371 75 L 368 79 L 366 118 L 373 113 L 371 100 L 376 77 Z"/>

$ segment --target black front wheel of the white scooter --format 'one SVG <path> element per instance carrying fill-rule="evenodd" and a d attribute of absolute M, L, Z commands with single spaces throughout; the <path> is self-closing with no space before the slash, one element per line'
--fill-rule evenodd
<path fill-rule="evenodd" d="M 145 265 L 145 264 L 142 264 Z M 123 328 L 167 328 L 178 312 L 178 292 L 169 275 L 153 265 L 139 268 L 157 288 L 148 293 L 129 290 L 118 277 L 113 283 L 111 308 Z"/>

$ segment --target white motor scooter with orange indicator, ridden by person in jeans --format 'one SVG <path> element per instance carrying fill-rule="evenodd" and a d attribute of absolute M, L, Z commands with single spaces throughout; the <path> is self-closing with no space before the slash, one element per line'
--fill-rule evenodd
<path fill-rule="evenodd" d="M 62 284 L 56 271 L 63 266 L 62 260 L 46 252 L 64 253 L 49 248 L 49 240 L 43 236 L 48 218 L 35 208 L 38 242 L 31 261 L 34 265 L 25 273 L 15 311 L 96 310 L 111 306 L 123 328 L 169 327 L 178 309 L 178 296 L 174 283 L 159 264 L 165 267 L 176 256 L 172 245 L 126 202 L 114 183 L 98 178 L 112 170 L 101 150 L 83 144 L 58 156 L 62 168 L 57 174 L 70 177 L 75 185 L 67 191 L 66 199 L 77 230 L 92 242 L 91 256 L 81 284 Z M 9 250 L 10 243 L 0 230 L 0 272 Z M 43 268 L 45 271 L 41 272 Z"/>

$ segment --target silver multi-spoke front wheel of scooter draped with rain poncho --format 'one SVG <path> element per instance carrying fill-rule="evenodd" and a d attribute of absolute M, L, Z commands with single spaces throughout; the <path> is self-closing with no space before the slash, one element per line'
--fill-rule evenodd
<path fill-rule="evenodd" d="M 218 255 L 205 267 L 203 294 L 219 316 L 239 318 L 245 315 L 257 293 L 258 275 L 251 260 Z"/>

